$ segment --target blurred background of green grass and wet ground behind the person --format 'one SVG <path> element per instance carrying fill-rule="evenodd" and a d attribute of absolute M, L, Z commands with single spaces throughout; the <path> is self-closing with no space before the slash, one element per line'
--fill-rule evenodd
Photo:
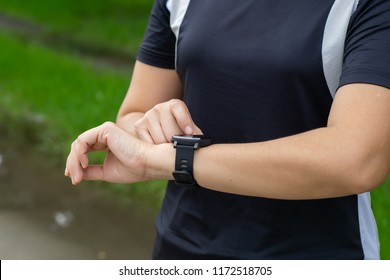
<path fill-rule="evenodd" d="M 63 173 L 73 139 L 115 120 L 152 4 L 0 0 L 0 259 L 150 257 L 164 182 Z M 390 181 L 373 209 L 390 259 Z"/>

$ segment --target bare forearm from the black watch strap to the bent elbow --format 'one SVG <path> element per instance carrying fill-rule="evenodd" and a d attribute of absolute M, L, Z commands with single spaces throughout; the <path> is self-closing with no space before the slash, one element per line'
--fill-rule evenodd
<path fill-rule="evenodd" d="M 275 199 L 338 197 L 376 187 L 376 159 L 347 139 L 322 128 L 263 143 L 212 145 L 196 152 L 194 176 L 213 190 Z"/>

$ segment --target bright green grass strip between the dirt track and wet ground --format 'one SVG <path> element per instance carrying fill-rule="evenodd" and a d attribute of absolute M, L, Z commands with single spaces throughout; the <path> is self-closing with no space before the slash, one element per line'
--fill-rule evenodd
<path fill-rule="evenodd" d="M 65 132 L 115 119 L 130 72 L 97 71 L 77 57 L 1 34 L 0 46 L 0 90 L 11 92 L 15 104 L 39 111 Z"/>

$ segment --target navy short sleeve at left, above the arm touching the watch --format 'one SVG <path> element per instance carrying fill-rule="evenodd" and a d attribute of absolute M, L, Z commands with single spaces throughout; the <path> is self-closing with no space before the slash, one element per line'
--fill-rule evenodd
<path fill-rule="evenodd" d="M 174 69 L 176 37 L 166 2 L 155 0 L 137 59 L 152 66 Z"/>

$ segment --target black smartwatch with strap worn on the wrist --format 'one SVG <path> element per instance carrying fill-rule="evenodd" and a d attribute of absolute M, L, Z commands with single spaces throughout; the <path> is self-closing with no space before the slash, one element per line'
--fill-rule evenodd
<path fill-rule="evenodd" d="M 204 135 L 175 135 L 171 142 L 176 149 L 175 170 L 172 172 L 177 185 L 194 186 L 193 173 L 195 150 L 211 144 L 211 138 Z"/>

